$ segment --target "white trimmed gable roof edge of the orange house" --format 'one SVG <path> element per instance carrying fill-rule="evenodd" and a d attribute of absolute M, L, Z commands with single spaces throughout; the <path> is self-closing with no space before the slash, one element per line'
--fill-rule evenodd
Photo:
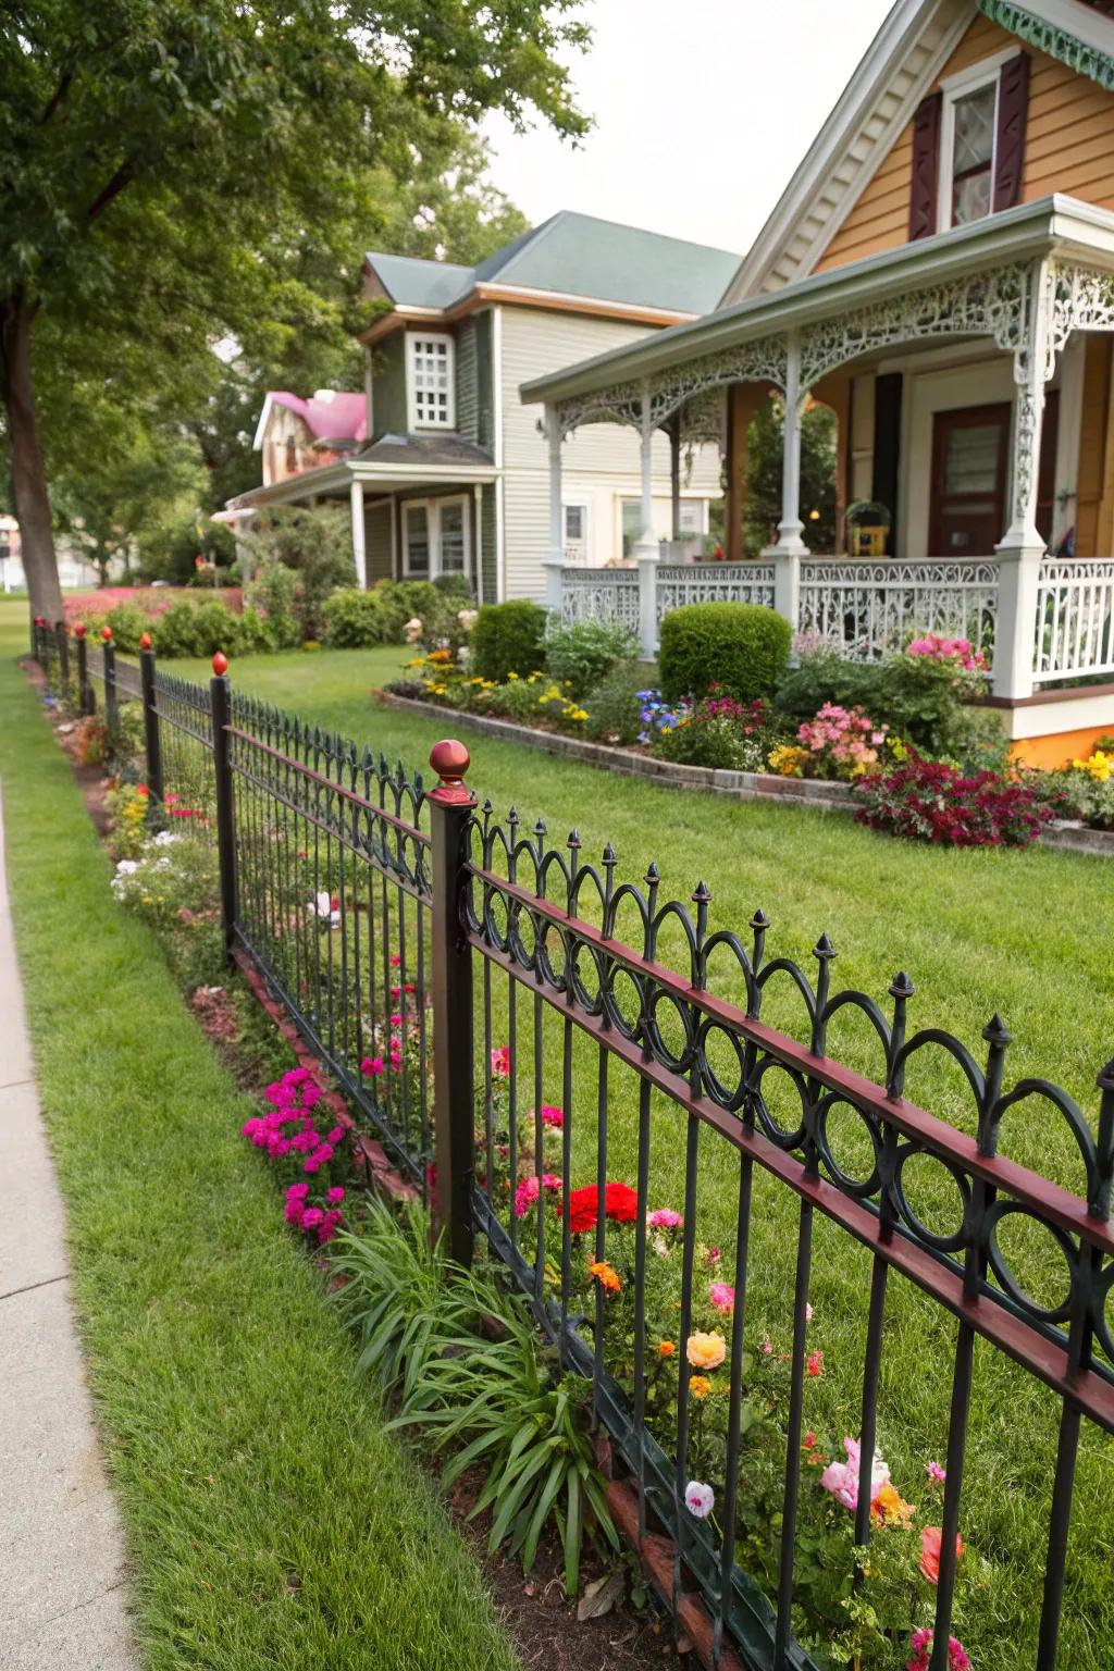
<path fill-rule="evenodd" d="M 1114 22 L 1084 0 L 897 0 L 767 224 L 722 306 L 813 271 L 827 244 L 982 12 L 1020 40 L 1102 85 L 1114 77 Z"/>

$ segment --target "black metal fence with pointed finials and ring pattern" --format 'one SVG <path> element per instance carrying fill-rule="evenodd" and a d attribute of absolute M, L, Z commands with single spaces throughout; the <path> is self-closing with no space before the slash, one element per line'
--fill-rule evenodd
<path fill-rule="evenodd" d="M 37 653 L 57 672 L 50 645 L 57 637 L 37 638 Z M 124 663 L 109 647 L 85 662 L 114 703 Z M 145 652 L 125 677 L 149 720 L 152 815 L 185 795 L 179 810 L 217 839 L 229 952 L 262 973 L 433 1200 L 454 1257 L 469 1262 L 479 1232 L 561 1362 L 591 1380 L 595 1417 L 636 1491 L 638 1536 L 646 1547 L 671 1539 L 670 1601 L 680 1614 L 700 1589 L 715 1658 L 755 1671 L 904 1664 L 922 1624 L 932 1638 L 912 1663 L 959 1663 L 949 1638 L 969 1559 L 960 1511 L 984 1492 L 965 1474 L 982 1372 L 997 1377 L 1005 1424 L 1037 1385 L 1057 1410 L 1049 1486 L 1025 1511 L 1029 1541 L 1042 1541 L 1025 1639 L 984 1663 L 1074 1666 L 1059 1644 L 1081 1434 L 1084 1422 L 1114 1434 L 1114 1063 L 1097 1076 L 1092 1123 L 1049 1079 L 1009 1083 L 1000 1018 L 975 1059 L 954 1034 L 910 1026 L 905 974 L 885 1008 L 838 991 L 827 937 L 808 976 L 770 956 L 760 911 L 745 934 L 713 929 L 703 884 L 688 902 L 666 899 L 653 866 L 633 884 L 611 847 L 593 864 L 575 830 L 551 846 L 541 822 L 496 819 L 468 790 L 458 742 L 433 750 L 428 790 L 401 764 L 234 693 L 222 670 L 204 690 Z M 840 1054 L 858 1066 L 830 1054 L 850 1023 L 858 1043 Z M 967 1130 L 909 1100 L 929 1059 L 952 1071 Z M 999 1153 L 1019 1116 L 1041 1121 L 1049 1171 L 1062 1158 L 1076 1190 Z M 705 1225 L 727 1253 L 705 1243 Z M 823 1475 L 825 1501 L 847 1514 L 837 1619 L 862 1619 L 890 1519 L 909 1527 L 910 1506 L 879 1491 L 875 1447 L 880 1434 L 900 1444 L 887 1354 L 914 1318 L 947 1407 L 930 1487 L 939 1539 L 922 1544 L 922 1591 L 899 1586 L 930 1616 L 904 1628 L 882 1618 L 873 1636 L 857 1624 L 857 1643 L 832 1626 L 842 1661 L 808 1601 L 818 1280 L 848 1312 L 843 1390 L 827 1419 L 833 1432 L 842 1419 L 858 1429 L 842 1496 L 838 1475 Z M 723 1323 L 705 1330 L 713 1290 Z M 661 1318 L 670 1338 L 658 1338 Z M 695 1481 L 696 1462 L 713 1479 Z M 884 1639 L 890 1659 L 877 1656 Z"/>

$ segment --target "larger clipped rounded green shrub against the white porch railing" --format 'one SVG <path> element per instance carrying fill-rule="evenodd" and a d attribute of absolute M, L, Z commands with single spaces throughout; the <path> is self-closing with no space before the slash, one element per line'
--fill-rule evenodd
<path fill-rule="evenodd" d="M 686 603 L 661 622 L 661 693 L 680 702 L 720 685 L 738 702 L 770 697 L 788 650 L 788 622 L 762 603 Z"/>

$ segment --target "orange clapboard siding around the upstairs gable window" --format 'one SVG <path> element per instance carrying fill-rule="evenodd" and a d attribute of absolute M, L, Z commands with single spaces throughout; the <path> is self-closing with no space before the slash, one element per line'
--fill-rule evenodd
<path fill-rule="evenodd" d="M 1025 47 L 1017 35 L 984 17 L 970 25 L 932 90 L 944 77 L 1009 48 L 1029 52 L 1032 58 L 1020 202 L 1064 192 L 1114 209 L 1114 94 L 1047 53 Z M 815 271 L 827 272 L 905 244 L 910 184 L 912 122 L 843 219 Z"/>

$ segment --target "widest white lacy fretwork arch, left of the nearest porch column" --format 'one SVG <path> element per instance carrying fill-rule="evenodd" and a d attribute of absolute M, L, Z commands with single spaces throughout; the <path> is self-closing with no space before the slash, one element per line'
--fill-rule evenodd
<path fill-rule="evenodd" d="M 999 348 L 1015 351 L 1024 346 L 1029 279 L 1030 267 L 1012 262 L 807 326 L 800 339 L 802 389 L 858 354 L 925 338 L 992 336 Z"/>

